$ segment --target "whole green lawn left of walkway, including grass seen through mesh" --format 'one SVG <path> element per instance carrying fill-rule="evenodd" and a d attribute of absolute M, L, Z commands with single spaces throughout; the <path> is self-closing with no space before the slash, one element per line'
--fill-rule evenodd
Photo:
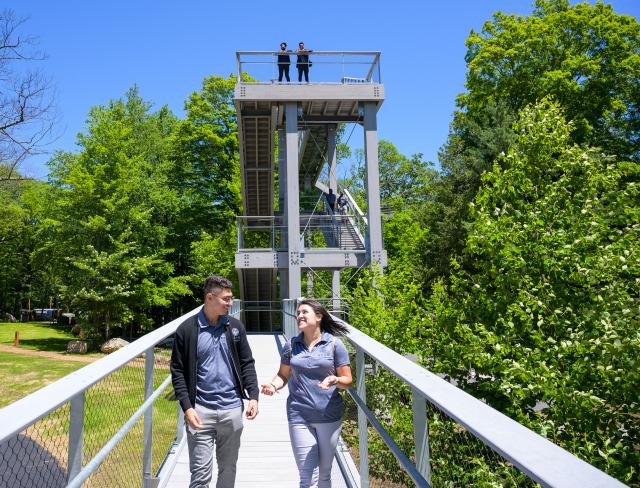
<path fill-rule="evenodd" d="M 3 334 L 0 335 L 1 342 L 8 337 L 6 325 L 26 326 L 23 330 L 35 332 L 34 335 L 40 337 L 36 340 L 46 339 L 47 331 L 60 332 L 40 324 L 0 324 L 0 331 L 2 331 L 0 334 Z M 13 341 L 12 335 L 13 333 L 11 333 L 10 343 Z M 64 339 L 65 346 L 67 340 Z M 45 341 L 44 344 L 50 346 L 52 342 Z M 168 352 L 165 351 L 162 354 L 168 357 Z M 144 360 L 138 358 L 87 390 L 84 430 L 85 463 L 100 450 L 141 404 L 144 391 L 143 365 Z M 0 351 L 0 392 L 2 392 L 0 408 L 83 366 L 86 364 L 76 361 Z M 154 383 L 157 387 L 169 374 L 166 358 L 156 364 L 155 373 Z M 171 398 L 171 393 L 172 388 L 169 386 L 153 408 L 154 472 L 159 468 L 176 434 L 177 402 Z M 140 419 L 100 469 L 85 483 L 85 486 L 88 488 L 139 487 L 142 472 L 142 431 L 143 420 Z M 36 422 L 24 434 L 48 453 L 51 462 L 55 461 L 62 469 L 66 469 L 69 435 L 68 404 Z M 16 447 L 16 449 L 19 448 Z M 11 480 L 10 478 L 9 481 Z"/>

